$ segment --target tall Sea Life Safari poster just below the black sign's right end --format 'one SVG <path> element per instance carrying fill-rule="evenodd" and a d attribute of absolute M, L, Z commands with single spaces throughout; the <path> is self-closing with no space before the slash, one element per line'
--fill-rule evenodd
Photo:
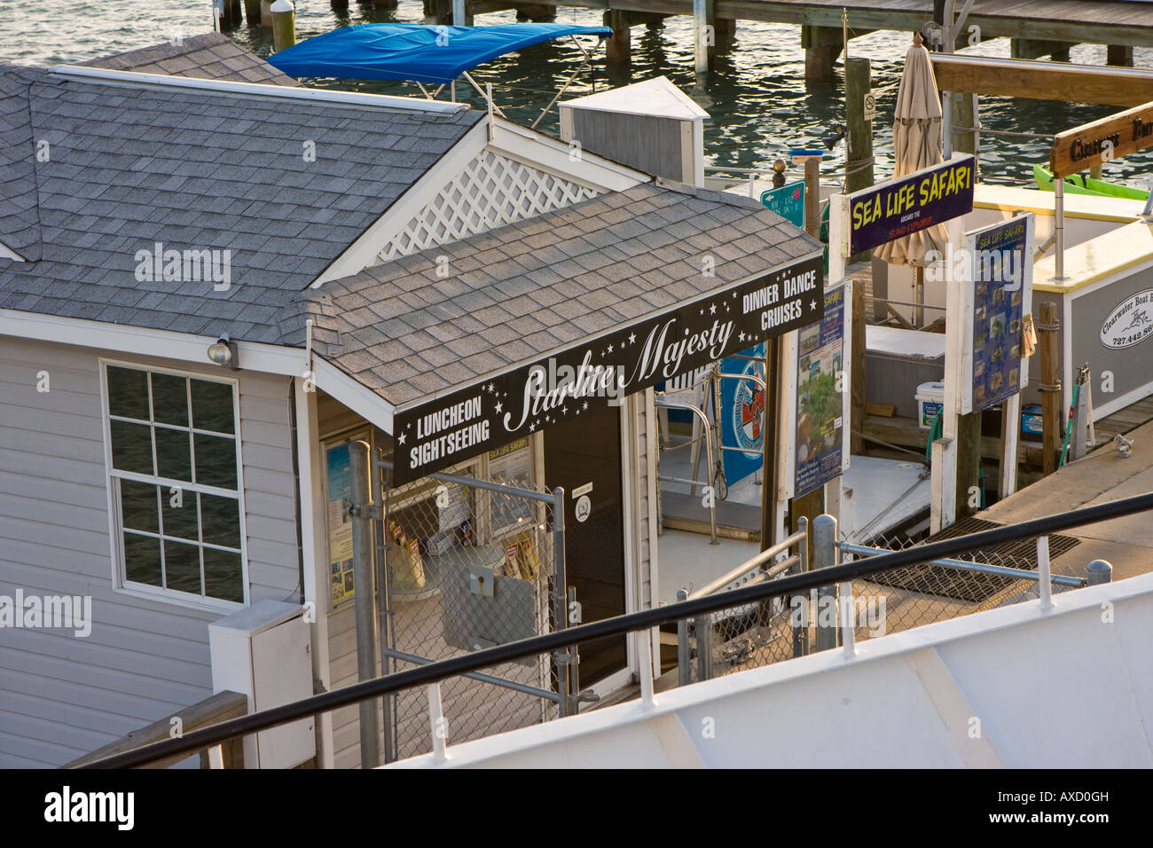
<path fill-rule="evenodd" d="M 826 292 L 824 316 L 797 339 L 797 441 L 793 497 L 835 480 L 842 471 L 845 287 Z"/>

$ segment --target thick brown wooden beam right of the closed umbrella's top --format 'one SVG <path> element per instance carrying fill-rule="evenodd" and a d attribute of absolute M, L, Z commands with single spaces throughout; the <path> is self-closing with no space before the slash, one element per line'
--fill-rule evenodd
<path fill-rule="evenodd" d="M 1139 106 L 1153 100 L 1151 70 L 948 53 L 930 53 L 929 58 L 942 91 L 1111 106 Z"/>

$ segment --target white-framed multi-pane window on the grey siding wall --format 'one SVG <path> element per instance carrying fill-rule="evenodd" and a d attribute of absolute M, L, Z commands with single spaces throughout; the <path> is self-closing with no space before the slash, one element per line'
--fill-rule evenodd
<path fill-rule="evenodd" d="M 164 366 L 156 366 L 145 362 L 133 362 L 128 360 L 116 360 L 99 358 L 99 369 L 100 369 L 100 426 L 103 428 L 104 436 L 104 467 L 105 467 L 105 487 L 108 495 L 108 534 L 111 540 L 111 560 L 112 560 L 112 588 L 114 592 L 131 595 L 134 598 L 142 598 L 153 601 L 163 601 L 166 603 L 174 603 L 181 607 L 187 607 L 190 609 L 209 610 L 209 611 L 221 611 L 231 613 L 238 609 L 243 609 L 250 602 L 250 591 L 249 585 L 249 564 L 248 564 L 248 531 L 244 525 L 246 509 L 244 509 L 244 465 L 241 456 L 241 420 L 240 420 L 240 380 L 236 377 L 229 377 L 224 375 L 204 374 L 202 372 L 193 370 L 179 370 L 174 368 L 166 368 Z M 221 598 L 206 598 L 202 595 L 194 595 L 189 592 L 181 592 L 174 588 L 164 588 L 160 586 L 150 586 L 144 583 L 134 583 L 127 579 L 125 570 L 125 551 L 123 551 L 123 519 L 120 512 L 120 498 L 116 497 L 116 485 L 115 480 L 134 480 L 137 482 L 146 482 L 159 485 L 161 487 L 173 488 L 179 487 L 184 490 L 191 490 L 194 493 L 209 494 L 209 495 L 220 495 L 224 497 L 232 497 L 233 493 L 229 489 L 218 489 L 211 486 L 201 486 L 196 483 L 190 483 L 187 480 L 169 480 L 168 478 L 152 476 L 149 474 L 138 474 L 135 472 L 118 471 L 112 465 L 112 427 L 111 422 L 113 420 L 111 412 L 108 410 L 108 367 L 116 368 L 129 368 L 133 370 L 141 370 L 148 374 L 169 374 L 178 377 L 189 377 L 191 380 L 203 380 L 210 383 L 225 383 L 232 388 L 232 414 L 233 414 L 233 429 L 235 433 L 232 434 L 233 441 L 236 443 L 236 506 L 240 510 L 240 568 L 241 568 L 241 586 L 244 592 L 244 600 L 242 603 L 236 601 L 227 601 Z M 151 410 L 151 398 L 149 399 L 149 406 Z M 116 417 L 118 420 L 122 417 Z M 131 419 L 135 420 L 135 419 Z M 150 425 L 151 426 L 151 425 Z M 180 429 L 180 428 L 174 428 Z M 191 427 L 191 421 L 189 421 L 189 428 L 193 433 L 196 430 Z M 210 435 L 228 435 L 228 434 L 213 434 L 210 430 L 203 430 L 205 434 Z M 153 445 L 153 463 L 155 463 L 155 445 Z M 149 534 L 144 534 L 149 535 Z M 197 542 L 198 547 L 203 547 L 204 542 Z M 209 545 L 209 547 L 219 547 Z M 201 565 L 202 579 L 203 579 L 203 564 Z"/>

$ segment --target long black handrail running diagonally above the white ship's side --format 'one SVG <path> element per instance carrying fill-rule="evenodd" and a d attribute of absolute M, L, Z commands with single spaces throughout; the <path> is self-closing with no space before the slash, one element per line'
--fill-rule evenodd
<path fill-rule="evenodd" d="M 270 727 L 295 721 L 308 715 L 356 704 L 366 698 L 376 698 L 402 689 L 437 683 L 446 677 L 453 677 L 466 671 L 476 671 L 500 662 L 556 651 L 576 643 L 604 636 L 619 636 L 636 630 L 647 630 L 660 624 L 670 624 L 680 618 L 691 618 L 706 613 L 714 613 L 718 609 L 764 601 L 770 598 L 807 593 L 809 590 L 828 586 L 832 583 L 851 580 L 879 571 L 888 571 L 904 565 L 913 565 L 920 562 L 952 556 L 971 548 L 1011 542 L 1034 535 L 1047 535 L 1060 530 L 1068 530 L 1069 527 L 1083 524 L 1094 524 L 1095 521 L 1109 518 L 1120 518 L 1148 509 L 1153 509 L 1153 491 L 1071 512 L 1062 512 L 1055 516 L 1022 521 L 1020 524 L 1010 524 L 994 530 L 986 530 L 980 533 L 945 539 L 930 545 L 905 548 L 891 554 L 871 556 L 842 565 L 807 571 L 792 577 L 744 586 L 704 598 L 679 601 L 653 609 L 643 609 L 639 613 L 619 615 L 613 618 L 604 618 L 589 624 L 545 633 L 544 636 L 534 636 L 528 639 L 453 656 L 452 659 L 434 662 L 429 666 L 397 671 L 371 681 L 354 683 L 353 685 L 322 695 L 314 695 L 310 698 L 304 698 L 292 704 L 284 704 L 271 710 L 263 710 L 251 715 L 244 715 L 240 719 L 223 721 L 219 725 L 213 725 L 202 730 L 194 730 L 178 738 L 164 740 L 163 742 L 145 745 L 134 751 L 106 757 L 82 767 L 130 768 L 142 766 L 163 757 L 203 750 L 234 736 L 265 730 Z"/>

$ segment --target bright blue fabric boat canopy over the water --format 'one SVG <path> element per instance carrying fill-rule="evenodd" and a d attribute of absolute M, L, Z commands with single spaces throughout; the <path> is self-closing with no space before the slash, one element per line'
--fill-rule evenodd
<path fill-rule="evenodd" d="M 612 33 L 608 27 L 506 23 L 496 27 L 427 27 L 366 23 L 342 27 L 282 50 L 269 62 L 288 76 L 342 80 L 452 82 L 466 70 L 541 42 Z"/>

